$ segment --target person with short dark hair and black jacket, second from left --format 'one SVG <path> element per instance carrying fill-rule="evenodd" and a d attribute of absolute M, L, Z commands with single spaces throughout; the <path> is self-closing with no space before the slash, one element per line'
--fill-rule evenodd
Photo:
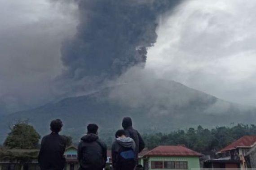
<path fill-rule="evenodd" d="M 106 165 L 106 144 L 99 139 L 97 133 L 97 124 L 88 124 L 87 135 L 81 138 L 78 145 L 79 170 L 102 170 Z"/>

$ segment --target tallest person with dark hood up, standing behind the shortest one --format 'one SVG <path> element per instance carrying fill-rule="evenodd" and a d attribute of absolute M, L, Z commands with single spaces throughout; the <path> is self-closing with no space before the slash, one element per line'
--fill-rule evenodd
<path fill-rule="evenodd" d="M 122 127 L 124 128 L 124 131 L 126 132 L 126 136 L 131 137 L 135 144 L 135 158 L 136 158 L 136 164 L 138 160 L 138 153 L 140 153 L 145 148 L 145 143 L 140 135 L 140 133 L 133 129 L 132 127 L 132 119 L 130 117 L 125 117 L 122 122 Z"/>

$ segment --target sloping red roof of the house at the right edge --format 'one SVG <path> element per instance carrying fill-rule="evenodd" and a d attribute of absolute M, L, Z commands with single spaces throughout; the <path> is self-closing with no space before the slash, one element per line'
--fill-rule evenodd
<path fill-rule="evenodd" d="M 236 149 L 239 147 L 251 147 L 256 142 L 256 136 L 243 136 L 240 139 L 234 141 L 232 144 L 221 149 L 218 153 L 228 150 Z"/>

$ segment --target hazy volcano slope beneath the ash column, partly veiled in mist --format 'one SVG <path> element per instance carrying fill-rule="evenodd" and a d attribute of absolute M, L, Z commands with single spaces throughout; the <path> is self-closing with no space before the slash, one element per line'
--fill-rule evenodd
<path fill-rule="evenodd" d="M 174 81 L 133 81 L 2 116 L 0 140 L 4 140 L 8 125 L 20 119 L 29 119 L 44 135 L 49 132 L 50 120 L 60 118 L 65 133 L 80 136 L 92 122 L 100 125 L 102 134 L 112 134 L 124 116 L 131 116 L 143 132 L 170 132 L 199 124 L 252 123 L 254 113 L 254 108 L 222 101 Z"/>

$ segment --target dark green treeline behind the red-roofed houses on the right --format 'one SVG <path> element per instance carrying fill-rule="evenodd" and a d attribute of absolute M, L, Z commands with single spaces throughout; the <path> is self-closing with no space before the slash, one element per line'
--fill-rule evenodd
<path fill-rule="evenodd" d="M 200 153 L 214 155 L 228 144 L 247 135 L 256 135 L 256 125 L 238 124 L 233 127 L 222 126 L 213 129 L 198 126 L 169 134 L 145 134 L 143 139 L 149 149 L 159 145 L 184 144 L 187 148 Z"/>

